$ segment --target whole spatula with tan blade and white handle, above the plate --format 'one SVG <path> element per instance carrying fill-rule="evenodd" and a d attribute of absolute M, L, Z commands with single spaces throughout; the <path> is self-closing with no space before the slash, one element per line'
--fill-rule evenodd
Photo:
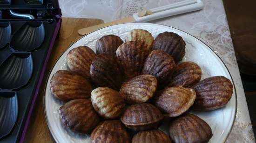
<path fill-rule="evenodd" d="M 92 31 L 95 31 L 110 25 L 128 23 L 128 22 L 147 22 L 147 21 L 161 19 L 161 18 L 173 16 L 173 15 L 186 13 L 186 12 L 201 10 L 202 7 L 203 7 L 203 3 L 201 0 L 184 0 L 184 1 L 170 4 L 167 6 L 161 6 L 161 7 L 157 7 L 149 10 L 144 10 L 142 12 L 134 13 L 132 16 L 129 16 L 124 19 L 118 19 L 108 23 L 86 27 L 86 28 L 80 29 L 78 33 L 80 35 L 85 35 Z"/>

